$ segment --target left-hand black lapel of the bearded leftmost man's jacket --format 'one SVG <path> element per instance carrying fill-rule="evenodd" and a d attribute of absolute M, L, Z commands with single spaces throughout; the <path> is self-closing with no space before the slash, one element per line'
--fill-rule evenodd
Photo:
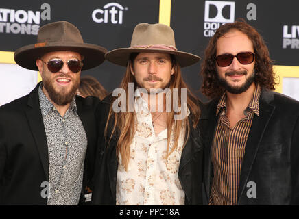
<path fill-rule="evenodd" d="M 49 181 L 49 155 L 47 146 L 47 136 L 45 133 L 45 127 L 43 123 L 43 116 L 40 111 L 39 99 L 38 99 L 38 87 L 40 83 L 30 92 L 28 98 L 29 109 L 25 112 L 29 127 L 32 131 L 32 136 L 36 142 L 38 153 L 40 155 L 40 162 L 43 164 L 45 170 L 45 177 Z"/>

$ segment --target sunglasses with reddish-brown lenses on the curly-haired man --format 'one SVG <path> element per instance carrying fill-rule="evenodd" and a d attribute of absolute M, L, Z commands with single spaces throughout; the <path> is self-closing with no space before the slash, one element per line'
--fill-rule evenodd
<path fill-rule="evenodd" d="M 254 53 L 252 52 L 243 52 L 238 53 L 237 55 L 232 54 L 223 54 L 223 55 L 217 55 L 216 62 L 219 67 L 226 67 L 232 64 L 232 60 L 234 57 L 237 57 L 237 60 L 241 64 L 250 64 L 254 61 Z"/>

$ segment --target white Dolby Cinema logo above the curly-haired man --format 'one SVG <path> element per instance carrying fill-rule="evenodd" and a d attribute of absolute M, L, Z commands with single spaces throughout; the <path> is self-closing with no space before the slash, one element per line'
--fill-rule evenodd
<path fill-rule="evenodd" d="M 204 7 L 204 36 L 211 37 L 224 23 L 235 21 L 235 1 L 206 1 Z"/>

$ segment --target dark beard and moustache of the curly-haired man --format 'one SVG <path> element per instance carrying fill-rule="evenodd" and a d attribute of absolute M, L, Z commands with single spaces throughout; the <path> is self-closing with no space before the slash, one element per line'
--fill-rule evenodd
<path fill-rule="evenodd" d="M 230 75 L 247 75 L 247 71 L 244 70 L 242 72 L 237 72 L 237 71 L 230 71 L 225 73 L 226 76 L 230 76 Z M 243 85 L 241 86 L 231 86 L 225 78 L 219 77 L 219 74 L 217 74 L 218 80 L 219 80 L 219 84 L 220 86 L 222 86 L 227 92 L 230 92 L 231 94 L 241 94 L 243 92 L 246 92 L 246 90 L 248 90 L 248 88 L 252 85 L 252 83 L 254 82 L 254 76 L 255 73 L 253 71 L 252 75 L 250 75 L 245 83 L 243 83 Z"/>

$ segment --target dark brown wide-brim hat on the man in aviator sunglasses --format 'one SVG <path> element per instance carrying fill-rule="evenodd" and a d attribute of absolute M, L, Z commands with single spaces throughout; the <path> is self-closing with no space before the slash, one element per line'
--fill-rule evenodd
<path fill-rule="evenodd" d="M 38 70 L 36 60 L 53 51 L 73 51 L 84 56 L 82 70 L 98 66 L 105 60 L 107 50 L 83 42 L 79 29 L 67 21 L 49 23 L 40 27 L 37 43 L 21 47 L 14 53 L 16 64 L 29 70 Z"/>

